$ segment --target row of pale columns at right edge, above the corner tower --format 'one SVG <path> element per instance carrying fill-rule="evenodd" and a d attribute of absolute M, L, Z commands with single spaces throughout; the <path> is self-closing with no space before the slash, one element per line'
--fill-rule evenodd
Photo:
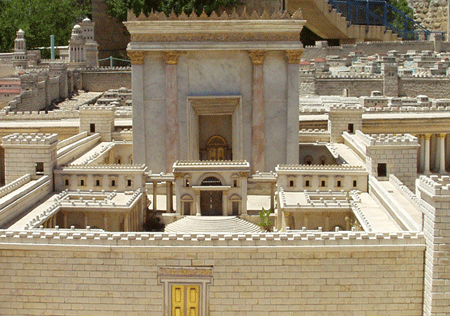
<path fill-rule="evenodd" d="M 447 144 L 446 133 L 415 135 L 420 144 L 418 157 L 418 172 L 424 174 L 445 173 Z"/>

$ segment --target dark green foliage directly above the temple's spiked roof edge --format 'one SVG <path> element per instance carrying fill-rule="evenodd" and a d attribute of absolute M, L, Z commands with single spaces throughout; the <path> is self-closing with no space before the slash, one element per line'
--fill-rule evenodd
<path fill-rule="evenodd" d="M 172 10 L 176 14 L 184 11 L 191 14 L 192 11 L 200 14 L 203 10 L 207 14 L 220 8 L 231 8 L 240 3 L 240 0 L 105 0 L 110 16 L 119 21 L 127 19 L 127 11 L 131 9 L 137 16 L 141 12 L 148 15 L 152 10 L 164 12 L 169 15 Z"/>

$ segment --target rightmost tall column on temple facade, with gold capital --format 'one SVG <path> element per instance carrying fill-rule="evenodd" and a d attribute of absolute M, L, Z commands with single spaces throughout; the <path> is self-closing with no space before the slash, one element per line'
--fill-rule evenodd
<path fill-rule="evenodd" d="M 298 164 L 298 98 L 299 98 L 299 64 L 303 50 L 286 51 L 288 62 L 287 75 L 287 118 L 286 118 L 286 163 Z M 272 211 L 273 208 L 271 207 Z"/>

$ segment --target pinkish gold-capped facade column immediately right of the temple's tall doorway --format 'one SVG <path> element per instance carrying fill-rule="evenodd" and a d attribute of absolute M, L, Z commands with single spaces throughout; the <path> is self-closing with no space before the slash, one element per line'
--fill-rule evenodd
<path fill-rule="evenodd" d="M 265 51 L 249 51 L 253 64 L 252 77 L 252 161 L 251 171 L 265 171 L 265 108 L 264 108 L 264 73 Z M 298 115 L 297 115 L 298 116 Z"/>

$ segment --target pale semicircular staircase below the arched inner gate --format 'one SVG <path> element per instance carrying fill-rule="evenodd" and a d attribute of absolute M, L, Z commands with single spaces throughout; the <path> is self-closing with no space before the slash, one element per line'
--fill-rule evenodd
<path fill-rule="evenodd" d="M 165 228 L 173 233 L 261 233 L 261 228 L 236 216 L 186 216 Z"/>

